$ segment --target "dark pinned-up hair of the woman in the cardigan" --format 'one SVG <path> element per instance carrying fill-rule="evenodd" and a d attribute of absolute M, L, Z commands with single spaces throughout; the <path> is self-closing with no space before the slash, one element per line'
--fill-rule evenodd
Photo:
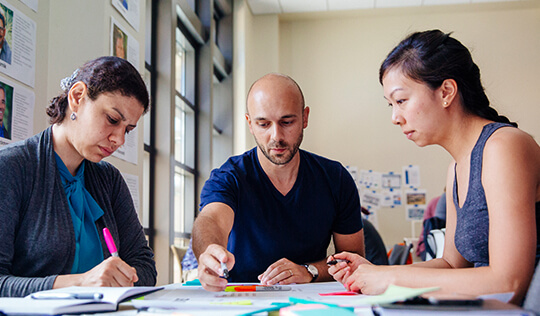
<path fill-rule="evenodd" d="M 141 75 L 123 58 L 103 56 L 86 62 L 74 73 L 73 78 L 66 81 L 63 92 L 54 97 L 47 107 L 47 115 L 51 124 L 62 123 L 68 107 L 68 92 L 78 81 L 84 82 L 88 88 L 88 97 L 97 99 L 103 93 L 120 93 L 139 101 L 144 112 L 148 112 L 150 101 L 148 90 Z"/>

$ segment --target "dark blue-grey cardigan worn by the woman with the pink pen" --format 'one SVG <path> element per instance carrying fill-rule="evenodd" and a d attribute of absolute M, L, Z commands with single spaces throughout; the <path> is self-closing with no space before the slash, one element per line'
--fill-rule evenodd
<path fill-rule="evenodd" d="M 0 296 L 50 290 L 59 274 L 71 273 L 73 220 L 54 157 L 52 126 L 0 148 Z M 101 161 L 84 163 L 84 187 L 104 214 L 120 258 L 137 270 L 136 286 L 156 284 L 152 250 L 120 171 Z M 103 257 L 111 254 L 100 235 Z"/>

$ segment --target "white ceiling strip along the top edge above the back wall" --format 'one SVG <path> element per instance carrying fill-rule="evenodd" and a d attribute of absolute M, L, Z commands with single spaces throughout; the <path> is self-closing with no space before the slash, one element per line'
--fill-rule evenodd
<path fill-rule="evenodd" d="M 258 15 L 505 1 L 520 0 L 247 0 L 247 3 L 251 12 Z"/>

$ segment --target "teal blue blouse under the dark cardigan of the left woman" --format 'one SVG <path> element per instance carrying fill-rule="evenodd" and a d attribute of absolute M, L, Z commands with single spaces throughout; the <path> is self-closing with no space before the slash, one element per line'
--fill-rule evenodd
<path fill-rule="evenodd" d="M 57 153 L 54 153 L 54 157 L 75 232 L 75 258 L 71 273 L 84 273 L 103 261 L 103 249 L 95 224 L 103 216 L 103 210 L 84 187 L 84 160 L 74 177 Z"/>

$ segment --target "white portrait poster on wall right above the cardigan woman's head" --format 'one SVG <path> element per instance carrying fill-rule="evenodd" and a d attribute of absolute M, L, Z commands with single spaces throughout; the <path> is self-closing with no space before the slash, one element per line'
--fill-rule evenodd
<path fill-rule="evenodd" d="M 139 69 L 139 42 L 111 17 L 112 56 L 124 58 Z"/>

